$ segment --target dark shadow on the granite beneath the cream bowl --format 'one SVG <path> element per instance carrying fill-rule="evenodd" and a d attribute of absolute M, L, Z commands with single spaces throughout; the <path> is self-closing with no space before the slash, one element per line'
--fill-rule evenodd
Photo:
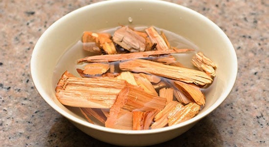
<path fill-rule="evenodd" d="M 50 147 L 118 147 L 90 137 L 62 116 L 51 126 L 45 140 Z M 182 135 L 148 147 L 217 147 L 223 144 L 218 127 L 210 117 L 205 117 Z"/>

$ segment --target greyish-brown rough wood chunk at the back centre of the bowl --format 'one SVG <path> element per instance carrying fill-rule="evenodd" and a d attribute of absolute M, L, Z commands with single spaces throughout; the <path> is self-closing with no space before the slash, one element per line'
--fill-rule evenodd
<path fill-rule="evenodd" d="M 131 52 L 144 51 L 146 47 L 145 38 L 135 33 L 128 26 L 117 29 L 112 38 L 116 44 Z"/>

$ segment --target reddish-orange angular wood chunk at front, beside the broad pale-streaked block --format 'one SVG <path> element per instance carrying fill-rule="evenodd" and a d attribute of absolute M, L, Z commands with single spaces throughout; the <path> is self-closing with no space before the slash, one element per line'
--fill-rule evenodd
<path fill-rule="evenodd" d="M 140 87 L 127 84 L 120 91 L 111 107 L 105 126 L 117 129 L 133 129 L 132 111 L 162 110 L 165 102 L 164 98 L 147 93 Z"/>

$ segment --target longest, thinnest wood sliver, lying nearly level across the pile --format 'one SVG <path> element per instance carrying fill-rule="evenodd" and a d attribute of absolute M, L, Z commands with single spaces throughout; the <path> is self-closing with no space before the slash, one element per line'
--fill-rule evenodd
<path fill-rule="evenodd" d="M 95 55 L 95 56 L 89 56 L 89 57 L 79 59 L 77 60 L 77 63 L 122 61 L 122 60 L 130 60 L 130 59 L 137 59 L 137 58 L 147 58 L 152 55 L 179 53 L 179 52 L 186 52 L 186 51 L 192 51 L 192 50 L 193 49 L 169 49 L 169 50 L 131 52 L 131 53 L 122 53 L 122 54 Z"/>

